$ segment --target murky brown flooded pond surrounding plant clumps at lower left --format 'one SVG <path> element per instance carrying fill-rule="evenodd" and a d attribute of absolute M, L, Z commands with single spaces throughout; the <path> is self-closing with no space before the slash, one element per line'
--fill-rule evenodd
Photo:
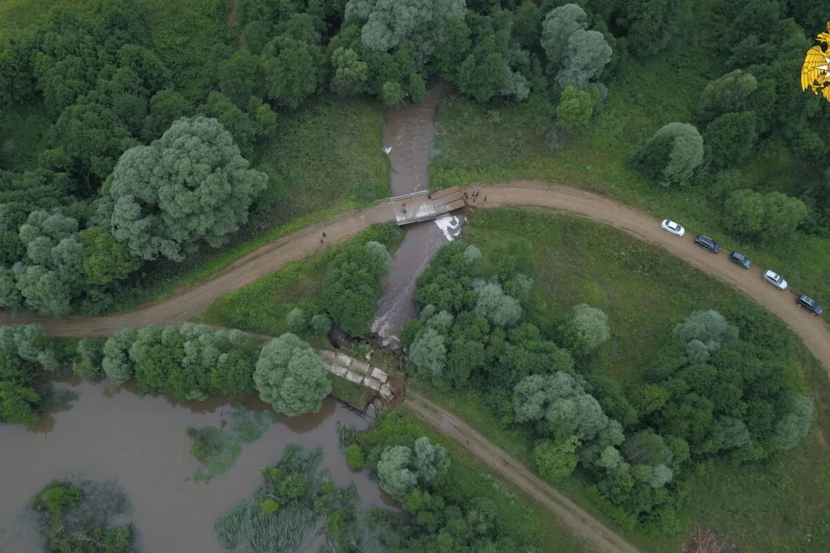
<path fill-rule="evenodd" d="M 27 503 L 46 483 L 60 478 L 118 483 L 129 497 L 139 551 L 219 553 L 224 550 L 213 523 L 250 496 L 261 481 L 260 469 L 276 463 L 291 443 L 320 446 L 325 451 L 321 468 L 329 468 L 339 486 L 354 483 L 364 505 L 389 502 L 365 473 L 346 467 L 338 449 L 337 422 L 358 428 L 366 423 L 331 398 L 319 413 L 271 425 L 261 439 L 243 446 L 227 473 L 203 484 L 190 479 L 200 465 L 188 453 L 185 429 L 217 426 L 234 406 L 267 408 L 260 400 L 212 398 L 182 404 L 139 396 L 120 386 L 76 381 L 61 386 L 78 394 L 71 410 L 46 417 L 37 429 L 0 425 L 0 551 L 40 551 Z"/>

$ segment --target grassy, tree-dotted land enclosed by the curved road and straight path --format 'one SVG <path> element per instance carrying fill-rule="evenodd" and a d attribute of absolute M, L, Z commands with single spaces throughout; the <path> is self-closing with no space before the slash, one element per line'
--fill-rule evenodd
<path fill-rule="evenodd" d="M 427 317 L 412 323 L 402 336 L 411 342 L 413 364 L 426 367 L 417 368 L 417 386 L 529 468 L 554 480 L 598 517 L 613 519 L 649 550 L 679 547 L 682 531 L 693 520 L 748 548 L 764 548 L 773 540 L 793 551 L 816 551 L 813 547 L 828 540 L 822 513 L 827 510 L 823 497 L 830 482 L 822 467 L 828 455 L 823 435 L 830 390 L 822 367 L 782 323 L 680 260 L 576 217 L 485 211 L 466 226 L 466 240 L 482 253 L 469 280 L 457 278 L 457 271 L 465 268 L 464 250 L 460 256 L 439 252 L 418 283 L 418 307 Z M 452 249 L 461 246 L 447 250 Z M 466 253 L 470 260 L 479 257 L 473 251 Z M 492 309 L 484 302 L 482 281 L 476 279 L 495 274 L 504 292 L 512 288 L 504 283 L 515 279 L 505 267 L 521 267 L 534 279 L 530 298 L 520 303 L 520 320 L 534 323 L 538 334 L 534 339 L 527 323 L 520 323 L 505 332 L 504 342 L 494 341 L 491 331 L 481 347 L 465 344 L 458 321 L 471 315 L 459 312 L 452 302 L 473 302 L 467 303 L 473 316 L 477 310 L 491 326 L 486 313 Z M 458 283 L 457 289 L 442 295 L 439 291 L 445 287 L 432 285 L 442 281 Z M 477 285 L 478 291 L 469 293 L 466 282 L 474 292 Z M 430 302 L 437 307 L 428 308 Z M 510 299 L 502 298 L 500 305 L 494 313 L 516 313 Z M 722 318 L 707 309 L 722 313 Z M 452 318 L 447 317 L 451 313 Z M 452 326 L 443 324 L 451 320 Z M 483 321 L 480 326 L 486 328 Z M 452 330 L 447 333 L 447 328 Z M 534 341 L 528 342 L 528 337 Z M 578 347 L 596 343 L 593 350 Z M 504 352 L 487 357 L 496 353 L 495 347 Z M 464 356 L 456 353 L 467 350 Z M 467 371 L 459 359 L 486 361 L 459 380 L 458 375 Z M 520 361 L 510 364 L 511 360 Z M 523 377 L 534 366 L 544 374 L 536 377 L 539 382 Z M 484 371 L 494 374 L 485 377 Z M 555 392 L 537 401 L 539 390 L 552 385 L 554 376 L 564 378 L 562 373 L 582 383 L 574 386 L 565 379 L 568 386 L 554 386 Z M 458 386 L 459 381 L 466 383 Z M 707 388 L 707 381 L 714 387 Z M 569 390 L 568 397 L 561 397 L 563 390 Z M 791 430 L 798 428 L 799 435 L 808 429 L 808 400 L 799 399 L 804 395 L 812 398 L 813 426 L 796 449 L 787 450 Z M 520 409 L 513 405 L 514 398 L 521 398 Z M 595 410 L 597 416 L 565 424 L 569 411 L 559 408 L 571 403 L 583 405 L 580 413 Z M 631 466 L 633 479 L 628 482 L 633 488 L 622 486 L 620 474 L 606 487 L 595 470 L 584 466 L 590 463 L 591 446 L 611 435 L 614 422 L 593 440 L 574 440 L 574 430 L 561 434 L 564 428 L 584 432 L 586 424 L 598 428 L 606 418 L 622 430 L 617 437 L 623 439 L 616 446 L 618 461 Z M 795 420 L 801 423 L 792 425 Z M 740 444 L 730 441 L 739 435 L 744 436 Z M 684 442 L 686 446 L 676 449 Z M 668 493 L 652 488 L 652 482 L 626 496 L 623 490 L 636 491 L 642 485 L 637 478 L 645 478 L 647 472 L 652 477 L 668 474 L 659 468 L 661 463 L 654 463 L 655 454 L 671 469 L 671 481 L 663 487 Z M 687 458 L 679 462 L 679 457 Z M 637 467 L 645 459 L 648 471 Z M 606 463 L 603 455 L 598 462 Z M 574 473 L 565 476 L 569 471 Z M 650 495 L 651 490 L 658 492 Z M 661 495 L 660 502 L 642 510 Z M 635 497 L 638 507 L 631 502 Z M 637 517 L 631 517 L 632 507 Z M 799 513 L 798 521 L 789 517 L 793 512 Z M 790 522 L 782 525 L 782 518 Z M 803 536 L 810 536 L 810 541 L 803 541 Z"/>

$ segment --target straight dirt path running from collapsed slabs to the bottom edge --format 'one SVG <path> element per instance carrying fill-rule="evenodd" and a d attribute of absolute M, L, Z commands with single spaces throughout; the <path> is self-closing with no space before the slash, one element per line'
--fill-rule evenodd
<path fill-rule="evenodd" d="M 487 200 L 490 201 L 489 195 Z M 439 429 L 442 434 L 457 441 L 494 472 L 533 498 L 541 507 L 554 513 L 564 526 L 593 546 L 598 553 L 637 553 L 638 550 L 623 537 L 593 518 L 553 486 L 540 480 L 503 449 L 452 413 L 411 389 L 407 391 L 407 399 L 403 406 Z"/>

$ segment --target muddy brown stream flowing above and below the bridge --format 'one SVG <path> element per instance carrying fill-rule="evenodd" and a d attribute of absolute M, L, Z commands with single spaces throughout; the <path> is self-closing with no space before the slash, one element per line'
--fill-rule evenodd
<path fill-rule="evenodd" d="M 390 109 L 383 128 L 383 145 L 392 148 L 392 195 L 429 189 L 429 160 L 432 157 L 435 109 L 444 94 L 436 85 L 421 104 L 407 103 Z M 447 218 L 406 226 L 403 244 L 392 258 L 392 269 L 378 304 L 372 331 L 385 338 L 398 336 L 403 324 L 413 318 L 415 279 L 427 268 L 432 255 L 448 240 L 461 233 L 459 221 Z M 455 228 L 453 228 L 455 226 Z"/>

